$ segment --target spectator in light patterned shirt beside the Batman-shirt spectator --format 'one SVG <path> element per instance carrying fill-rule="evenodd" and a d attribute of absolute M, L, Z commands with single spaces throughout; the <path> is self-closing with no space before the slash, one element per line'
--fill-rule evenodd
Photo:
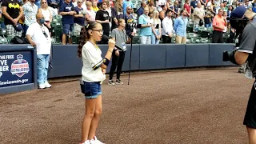
<path fill-rule="evenodd" d="M 25 17 L 25 22 L 24 22 L 24 33 L 26 34 L 26 30 L 28 27 L 36 22 L 35 15 L 38 13 L 38 6 L 34 4 L 35 0 L 29 0 L 26 2 L 25 5 L 22 6 L 23 11 L 24 11 L 24 17 Z"/>

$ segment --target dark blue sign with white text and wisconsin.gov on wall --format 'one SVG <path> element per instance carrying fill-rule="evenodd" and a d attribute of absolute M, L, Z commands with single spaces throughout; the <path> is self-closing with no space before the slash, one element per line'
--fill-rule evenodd
<path fill-rule="evenodd" d="M 33 60 L 30 51 L 0 54 L 0 87 L 33 82 Z"/>

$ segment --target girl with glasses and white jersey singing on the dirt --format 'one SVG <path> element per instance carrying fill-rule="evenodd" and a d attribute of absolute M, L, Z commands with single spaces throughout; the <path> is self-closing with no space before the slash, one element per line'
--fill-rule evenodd
<path fill-rule="evenodd" d="M 108 66 L 115 42 L 109 40 L 109 49 L 105 58 L 97 42 L 102 39 L 102 25 L 98 22 L 88 22 L 82 26 L 78 45 L 78 57 L 82 57 L 82 81 L 85 94 L 85 115 L 82 122 L 82 144 L 101 144 L 95 136 L 99 117 L 102 114 L 102 81 L 106 79 Z"/>

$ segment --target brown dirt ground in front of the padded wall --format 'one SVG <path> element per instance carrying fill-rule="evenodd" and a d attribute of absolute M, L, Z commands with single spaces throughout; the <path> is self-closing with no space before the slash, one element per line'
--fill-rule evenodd
<path fill-rule="evenodd" d="M 254 80 L 237 68 L 131 75 L 102 86 L 97 136 L 107 144 L 242 144 Z M 0 96 L 0 143 L 78 144 L 84 114 L 79 83 Z"/>

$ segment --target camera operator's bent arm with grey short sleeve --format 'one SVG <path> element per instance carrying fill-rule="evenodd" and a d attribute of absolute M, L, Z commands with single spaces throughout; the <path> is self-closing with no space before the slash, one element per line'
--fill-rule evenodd
<path fill-rule="evenodd" d="M 252 31 L 253 30 L 253 31 Z M 246 26 L 242 31 L 241 44 L 234 54 L 234 59 L 238 65 L 242 65 L 247 61 L 249 54 L 253 54 L 256 42 L 255 28 L 253 25 Z"/>

